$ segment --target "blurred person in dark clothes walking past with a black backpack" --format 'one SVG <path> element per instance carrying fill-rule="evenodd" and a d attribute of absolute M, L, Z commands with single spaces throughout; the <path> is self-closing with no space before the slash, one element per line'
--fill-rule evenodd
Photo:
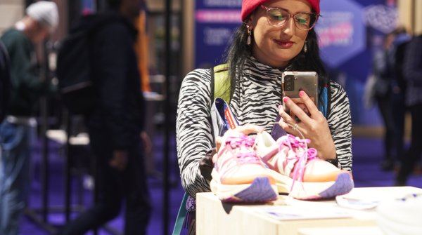
<path fill-rule="evenodd" d="M 104 24 L 94 34 L 92 58 L 98 104 L 86 116 L 96 157 L 98 201 L 60 234 L 84 234 L 115 218 L 126 203 L 124 234 L 146 234 L 151 205 L 143 163 L 145 107 L 134 52 L 139 0 L 109 0 L 112 10 L 94 20 Z M 92 16 L 92 15 L 91 15 Z M 107 20 L 114 18 L 115 20 Z"/>

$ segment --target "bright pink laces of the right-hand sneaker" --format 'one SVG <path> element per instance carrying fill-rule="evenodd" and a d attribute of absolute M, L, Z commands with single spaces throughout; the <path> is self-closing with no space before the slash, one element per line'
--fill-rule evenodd
<path fill-rule="evenodd" d="M 295 185 L 295 181 L 299 180 L 300 182 L 303 182 L 303 175 L 305 175 L 305 166 L 308 161 L 318 159 L 316 156 L 316 149 L 310 148 L 308 149 L 307 144 L 309 144 L 311 141 L 309 139 L 299 139 L 295 137 L 294 135 L 287 134 L 286 138 L 283 138 L 279 145 L 279 152 L 282 150 L 283 146 L 287 146 L 290 149 L 293 149 L 293 152 L 295 152 L 295 156 L 287 157 L 287 161 L 291 160 L 298 160 L 298 162 L 295 164 L 295 170 L 293 171 L 293 183 L 290 187 L 290 192 L 292 192 L 293 187 Z M 305 151 L 302 152 L 302 154 L 299 156 L 298 149 L 305 149 Z"/>

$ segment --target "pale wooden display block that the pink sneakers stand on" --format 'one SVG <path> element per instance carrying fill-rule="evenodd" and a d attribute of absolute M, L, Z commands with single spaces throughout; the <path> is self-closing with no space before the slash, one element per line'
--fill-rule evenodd
<path fill-rule="evenodd" d="M 409 193 L 422 193 L 422 189 L 416 187 L 354 188 L 347 196 L 351 199 L 381 201 L 399 198 Z M 298 212 L 298 215 L 290 213 L 292 211 Z M 212 193 L 199 193 L 196 196 L 198 235 L 298 235 L 299 229 L 302 228 L 376 226 L 374 208 L 366 210 L 344 208 L 338 206 L 335 200 L 300 201 L 289 199 L 288 196 L 279 196 L 279 199 L 273 203 L 242 204 L 222 203 Z M 302 231 L 301 233 L 303 234 Z"/>

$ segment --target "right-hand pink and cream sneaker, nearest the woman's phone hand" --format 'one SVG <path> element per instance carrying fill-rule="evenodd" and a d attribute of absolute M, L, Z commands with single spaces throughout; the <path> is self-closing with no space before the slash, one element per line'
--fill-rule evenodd
<path fill-rule="evenodd" d="M 307 148 L 309 140 L 283 135 L 275 141 L 269 133 L 258 133 L 257 155 L 271 169 L 279 192 L 295 199 L 328 199 L 347 194 L 354 187 L 352 175 L 316 156 Z"/>

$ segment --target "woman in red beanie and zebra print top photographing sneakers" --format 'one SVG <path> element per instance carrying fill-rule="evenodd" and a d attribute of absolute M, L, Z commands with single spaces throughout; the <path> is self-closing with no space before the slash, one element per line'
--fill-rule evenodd
<path fill-rule="evenodd" d="M 295 135 L 297 131 L 288 124 L 298 128 L 321 159 L 351 171 L 349 102 L 345 90 L 328 81 L 319 57 L 314 32 L 318 14 L 319 0 L 243 1 L 243 25 L 236 31 L 226 59 L 226 82 L 232 84 L 230 106 L 239 124 L 248 124 L 248 132 L 262 128 L 270 132 L 280 116 L 281 128 Z M 285 70 L 317 72 L 319 99 L 328 100 L 328 105 L 319 109 L 305 94 L 302 100 L 311 116 L 288 98 L 284 98 L 286 105 L 300 122 L 283 109 L 279 112 L 283 103 L 281 74 Z M 201 159 L 210 156 L 213 148 L 210 75 L 210 69 L 193 70 L 186 75 L 179 95 L 177 152 L 183 187 L 193 197 L 198 192 L 210 192 L 209 172 L 201 174 L 200 170 Z M 329 92 L 324 93 L 327 88 Z"/>

